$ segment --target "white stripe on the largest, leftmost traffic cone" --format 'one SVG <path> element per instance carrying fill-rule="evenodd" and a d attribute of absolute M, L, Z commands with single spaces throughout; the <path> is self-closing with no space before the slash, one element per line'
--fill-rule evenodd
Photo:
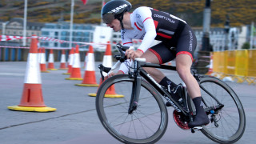
<path fill-rule="evenodd" d="M 30 53 L 26 62 L 26 75 L 24 83 L 41 84 L 41 74 L 38 63 L 38 54 Z"/>

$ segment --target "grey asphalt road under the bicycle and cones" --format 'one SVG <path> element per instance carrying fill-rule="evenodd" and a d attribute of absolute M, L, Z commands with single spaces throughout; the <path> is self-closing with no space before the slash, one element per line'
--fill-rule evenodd
<path fill-rule="evenodd" d="M 98 66 L 100 62 L 96 62 Z M 55 62 L 55 68 L 59 63 Z M 99 82 L 99 72 L 96 78 Z M 65 80 L 66 70 L 52 70 L 41 73 L 42 94 L 46 106 L 57 108 L 54 112 L 37 113 L 8 110 L 17 106 L 22 98 L 26 62 L 0 62 L 0 143 L 1 144 L 99 144 L 120 143 L 106 132 L 98 120 L 95 98 L 97 87 L 74 86 L 82 81 Z M 81 69 L 83 77 L 84 70 Z M 174 72 L 165 74 L 180 82 Z M 256 90 L 246 83 L 231 82 L 246 111 L 246 131 L 238 144 L 252 144 L 256 133 Z M 214 143 L 201 132 L 192 134 L 181 130 L 174 123 L 173 108 L 169 109 L 169 126 L 166 134 L 157 143 Z"/>

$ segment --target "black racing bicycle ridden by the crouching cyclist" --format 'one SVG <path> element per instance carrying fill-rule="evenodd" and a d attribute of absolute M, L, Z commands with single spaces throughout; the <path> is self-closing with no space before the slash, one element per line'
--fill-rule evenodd
<path fill-rule="evenodd" d="M 125 62 L 122 51 L 128 47 L 117 45 L 120 55 L 115 58 Z M 237 142 L 246 128 L 246 116 L 237 94 L 225 82 L 212 76 L 194 73 L 202 93 L 202 101 L 210 124 L 193 129 L 188 123 L 193 121 L 194 103 L 182 89 L 182 102 L 175 102 L 170 93 L 147 74 L 142 67 L 176 70 L 174 66 L 158 65 L 136 58 L 129 74 L 119 74 L 107 78 L 98 88 L 96 109 L 98 118 L 114 138 L 123 143 L 154 143 L 166 132 L 168 113 L 166 102 L 174 107 L 174 121 L 183 130 L 201 130 L 206 137 L 218 143 Z M 106 73 L 111 68 L 99 66 Z M 102 79 L 104 77 L 102 76 Z M 106 91 L 114 86 L 122 98 L 108 98 Z"/>

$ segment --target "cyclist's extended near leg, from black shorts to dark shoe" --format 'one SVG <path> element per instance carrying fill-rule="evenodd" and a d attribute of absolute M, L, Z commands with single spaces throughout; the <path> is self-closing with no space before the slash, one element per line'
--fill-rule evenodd
<path fill-rule="evenodd" d="M 189 123 L 190 127 L 202 126 L 210 122 L 206 115 L 202 103 L 202 97 L 198 82 L 190 73 L 192 66 L 193 53 L 196 48 L 197 42 L 193 31 L 190 26 L 186 26 L 182 31 L 181 37 L 178 39 L 176 67 L 180 78 L 186 84 L 186 88 L 193 99 L 196 107 L 196 117 L 193 122 Z"/>

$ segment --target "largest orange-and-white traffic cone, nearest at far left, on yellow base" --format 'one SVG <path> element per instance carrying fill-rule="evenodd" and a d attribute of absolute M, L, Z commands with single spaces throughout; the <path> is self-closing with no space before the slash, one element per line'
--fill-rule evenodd
<path fill-rule="evenodd" d="M 22 99 L 18 106 L 8 106 L 10 110 L 49 112 L 55 108 L 46 107 L 42 98 L 41 74 L 38 63 L 38 39 L 32 38 L 30 53 L 26 63 L 26 76 Z"/>

